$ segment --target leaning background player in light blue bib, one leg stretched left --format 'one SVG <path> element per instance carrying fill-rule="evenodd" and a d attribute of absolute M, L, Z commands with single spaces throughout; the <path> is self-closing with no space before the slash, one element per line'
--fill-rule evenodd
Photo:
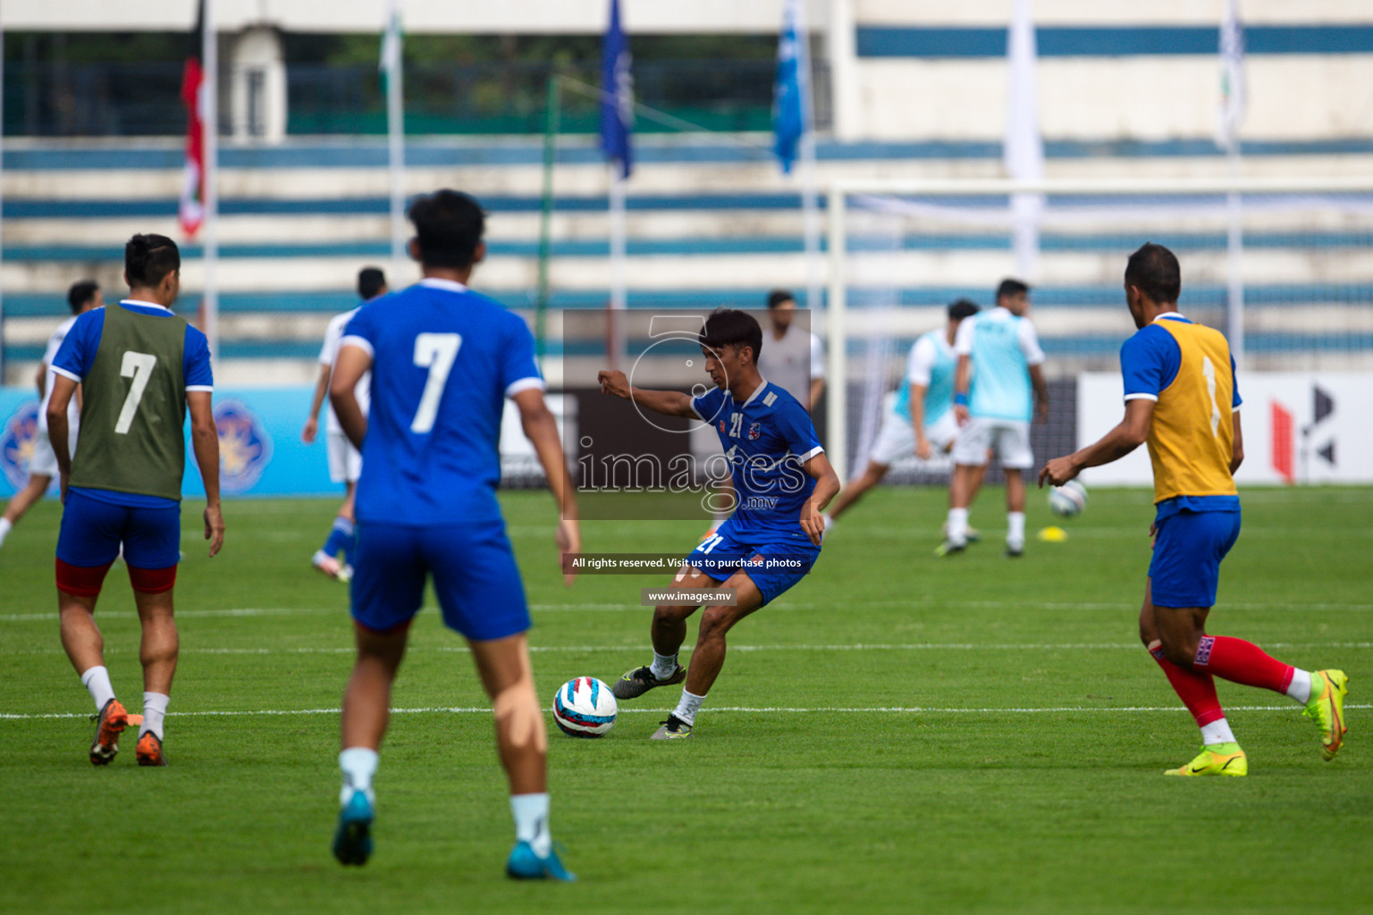
<path fill-rule="evenodd" d="M 898 458 L 914 454 L 921 461 L 947 453 L 958 438 L 953 418 L 953 376 L 958 357 L 953 351 L 954 335 L 964 320 L 978 313 L 968 299 L 949 305 L 949 320 L 938 331 L 921 333 L 906 357 L 906 375 L 897 396 L 883 417 L 877 439 L 868 451 L 868 466 L 849 480 L 825 516 L 827 527 L 839 520 L 864 492 L 881 483 Z"/>

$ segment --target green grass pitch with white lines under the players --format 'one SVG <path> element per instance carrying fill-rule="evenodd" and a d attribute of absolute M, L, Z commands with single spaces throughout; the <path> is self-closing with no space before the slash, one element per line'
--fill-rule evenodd
<path fill-rule="evenodd" d="M 884 488 L 814 572 L 730 635 L 686 742 L 648 735 L 677 690 L 626 702 L 599 741 L 549 720 L 555 838 L 575 885 L 503 875 L 512 826 L 471 658 L 417 620 L 376 779 L 376 853 L 330 855 L 346 589 L 309 568 L 332 501 L 229 502 L 207 560 L 184 512 L 170 767 L 132 739 L 86 761 L 91 700 L 58 643 L 38 506 L 0 550 L 4 912 L 1362 912 L 1373 899 L 1373 490 L 1243 494 L 1211 631 L 1351 676 L 1350 737 L 1321 761 L 1285 697 L 1221 685 L 1245 779 L 1166 779 L 1200 741 L 1138 645 L 1148 494 L 1097 490 L 1060 524 L 1030 505 L 1024 558 L 986 540 L 935 560 L 943 492 Z M 549 701 L 648 658 L 638 589 L 562 586 L 544 492 L 504 494 Z M 686 550 L 700 523 L 585 525 L 595 551 Z M 141 706 L 121 567 L 97 619 L 115 689 Z M 688 645 L 693 635 L 688 638 Z M 453 711 L 457 709 L 457 711 Z M 827 711 L 828 709 L 828 711 Z"/>

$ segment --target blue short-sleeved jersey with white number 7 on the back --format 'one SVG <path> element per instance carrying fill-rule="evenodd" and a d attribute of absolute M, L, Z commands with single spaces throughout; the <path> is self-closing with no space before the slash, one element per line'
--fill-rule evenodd
<path fill-rule="evenodd" d="M 358 520 L 498 519 L 505 398 L 544 387 L 524 321 L 459 283 L 426 278 L 362 306 L 343 331 L 347 346 L 372 355 Z"/>

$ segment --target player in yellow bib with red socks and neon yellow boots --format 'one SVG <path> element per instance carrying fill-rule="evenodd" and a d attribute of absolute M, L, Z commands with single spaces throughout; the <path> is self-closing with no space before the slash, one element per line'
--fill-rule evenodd
<path fill-rule="evenodd" d="M 1306 706 L 1330 760 L 1347 730 L 1344 671 L 1302 671 L 1258 645 L 1207 635 L 1221 561 L 1240 536 L 1234 471 L 1244 460 L 1240 391 L 1225 337 L 1178 314 L 1178 259 L 1145 244 L 1124 272 L 1140 331 L 1120 347 L 1124 420 L 1087 447 L 1049 461 L 1039 486 L 1063 486 L 1083 468 L 1116 461 L 1141 443 L 1153 464 L 1153 561 L 1140 639 L 1201 728 L 1201 753 L 1168 775 L 1245 775 L 1248 759 L 1225 720 L 1214 676 L 1285 693 Z"/>

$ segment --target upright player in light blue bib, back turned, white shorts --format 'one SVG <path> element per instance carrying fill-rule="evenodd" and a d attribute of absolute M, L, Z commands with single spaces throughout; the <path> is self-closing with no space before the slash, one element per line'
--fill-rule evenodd
<path fill-rule="evenodd" d="M 953 449 L 947 539 L 935 556 L 950 556 L 967 546 L 968 506 L 978 495 L 989 449 L 995 450 L 1006 475 L 1006 556 L 1024 551 L 1023 473 L 1034 465 L 1030 423 L 1049 416 L 1049 387 L 1039 368 L 1043 350 L 1034 324 L 1024 317 L 1028 307 L 1030 287 L 1020 280 L 1002 280 L 997 307 L 958 328 L 953 344 L 958 354 L 953 409 L 961 432 Z"/>

